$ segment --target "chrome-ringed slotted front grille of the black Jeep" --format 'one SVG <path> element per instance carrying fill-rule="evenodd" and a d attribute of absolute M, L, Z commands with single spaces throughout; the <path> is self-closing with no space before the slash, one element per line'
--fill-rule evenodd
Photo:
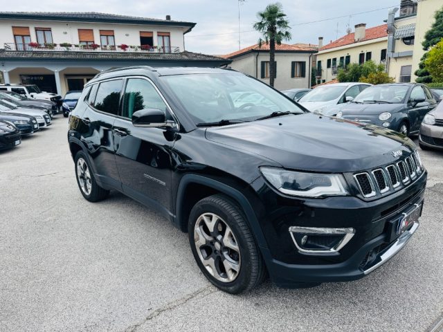
<path fill-rule="evenodd" d="M 415 151 L 395 164 L 354 174 L 354 179 L 363 197 L 370 198 L 399 190 L 401 185 L 404 187 L 415 181 L 423 172 L 422 162 Z"/>

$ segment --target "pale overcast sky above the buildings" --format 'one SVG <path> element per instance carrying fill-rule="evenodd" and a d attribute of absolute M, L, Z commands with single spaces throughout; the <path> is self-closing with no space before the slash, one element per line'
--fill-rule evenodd
<path fill-rule="evenodd" d="M 246 0 L 240 5 L 242 47 L 257 42 L 259 34 L 251 31 L 256 14 L 271 2 L 274 1 Z M 1 11 L 94 11 L 157 19 L 171 15 L 174 20 L 197 23 L 185 37 L 186 50 L 207 54 L 238 50 L 237 0 L 0 0 L 0 3 Z M 399 6 L 400 0 L 280 0 L 280 3 L 292 26 L 291 44 L 316 44 L 318 36 L 323 36 L 327 44 L 337 35 L 345 35 L 348 24 L 351 28 L 359 23 L 368 27 L 383 24 L 388 9 L 381 8 Z M 309 23 L 313 21 L 317 22 Z"/>

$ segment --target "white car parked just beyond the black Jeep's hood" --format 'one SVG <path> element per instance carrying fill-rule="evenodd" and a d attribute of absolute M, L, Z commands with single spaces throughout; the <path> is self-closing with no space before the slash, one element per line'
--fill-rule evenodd
<path fill-rule="evenodd" d="M 298 103 L 311 112 L 325 116 L 335 116 L 341 107 L 372 84 L 333 83 L 317 86 L 305 94 Z"/>

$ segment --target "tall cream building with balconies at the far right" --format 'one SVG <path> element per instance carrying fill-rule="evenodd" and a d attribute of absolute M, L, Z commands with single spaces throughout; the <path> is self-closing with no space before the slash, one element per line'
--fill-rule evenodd
<path fill-rule="evenodd" d="M 424 35 L 435 20 L 435 11 L 442 8 L 443 0 L 401 0 L 399 8 L 390 10 L 387 71 L 396 82 L 414 82 L 417 78 L 414 73 L 424 55 Z"/>

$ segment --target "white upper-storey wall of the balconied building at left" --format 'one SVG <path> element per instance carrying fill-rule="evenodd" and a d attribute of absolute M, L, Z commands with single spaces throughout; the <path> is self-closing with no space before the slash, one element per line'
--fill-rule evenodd
<path fill-rule="evenodd" d="M 32 42 L 37 42 L 35 28 L 51 28 L 55 44 L 78 44 L 78 29 L 93 29 L 96 44 L 100 44 L 100 30 L 114 30 L 116 45 L 127 44 L 137 46 L 140 46 L 140 31 L 150 31 L 154 34 L 154 46 L 156 46 L 157 32 L 165 32 L 170 33 L 171 46 L 179 47 L 181 51 L 184 50 L 183 31 L 188 29 L 177 26 L 2 19 L 0 20 L 0 48 L 3 48 L 4 43 L 14 43 L 12 26 L 29 27 Z"/>

